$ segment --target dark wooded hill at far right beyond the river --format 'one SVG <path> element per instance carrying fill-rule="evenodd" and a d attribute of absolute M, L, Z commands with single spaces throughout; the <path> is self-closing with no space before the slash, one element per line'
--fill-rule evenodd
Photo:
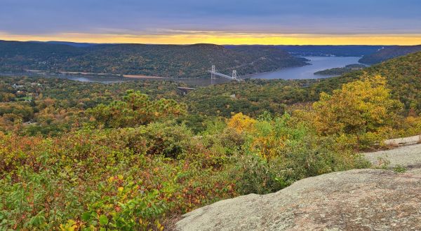
<path fill-rule="evenodd" d="M 363 64 L 377 64 L 387 59 L 408 55 L 413 52 L 421 51 L 421 45 L 394 45 L 377 50 L 370 55 L 364 55 L 359 62 Z"/>

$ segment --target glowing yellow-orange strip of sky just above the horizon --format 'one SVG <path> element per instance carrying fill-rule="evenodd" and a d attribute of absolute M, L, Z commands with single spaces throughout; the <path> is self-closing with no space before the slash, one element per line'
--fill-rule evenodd
<path fill-rule="evenodd" d="M 0 39 L 15 41 L 74 41 L 87 43 L 154 44 L 262 44 L 262 45 L 418 45 L 421 34 L 229 34 L 223 32 L 187 34 L 42 34 L 0 33 Z"/>

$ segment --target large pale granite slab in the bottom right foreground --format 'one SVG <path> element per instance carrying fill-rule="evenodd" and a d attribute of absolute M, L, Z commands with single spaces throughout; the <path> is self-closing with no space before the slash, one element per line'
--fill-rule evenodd
<path fill-rule="evenodd" d="M 421 169 L 357 169 L 310 177 L 268 195 L 222 200 L 176 230 L 421 230 Z"/>

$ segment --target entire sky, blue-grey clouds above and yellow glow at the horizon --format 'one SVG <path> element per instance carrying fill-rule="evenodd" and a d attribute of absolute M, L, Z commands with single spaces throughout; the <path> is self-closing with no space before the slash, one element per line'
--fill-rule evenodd
<path fill-rule="evenodd" d="M 421 44 L 420 0 L 0 0 L 0 39 Z"/>

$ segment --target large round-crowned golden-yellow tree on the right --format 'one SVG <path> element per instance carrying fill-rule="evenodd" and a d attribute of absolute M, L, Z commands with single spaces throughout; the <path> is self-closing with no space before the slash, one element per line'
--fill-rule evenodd
<path fill-rule="evenodd" d="M 402 104 L 392 99 L 381 76 L 363 76 L 333 94 L 321 93 L 313 104 L 314 123 L 321 134 L 363 134 L 392 126 Z"/>

